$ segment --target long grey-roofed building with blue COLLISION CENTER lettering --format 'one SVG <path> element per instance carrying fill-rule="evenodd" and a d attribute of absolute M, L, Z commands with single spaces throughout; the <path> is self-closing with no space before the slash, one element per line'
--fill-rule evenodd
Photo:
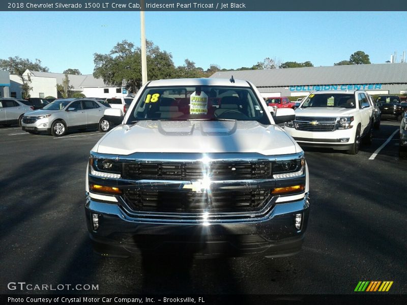
<path fill-rule="evenodd" d="M 370 95 L 406 94 L 407 63 L 221 71 L 211 78 L 251 81 L 264 97 L 306 96 L 318 90 L 366 90 Z"/>

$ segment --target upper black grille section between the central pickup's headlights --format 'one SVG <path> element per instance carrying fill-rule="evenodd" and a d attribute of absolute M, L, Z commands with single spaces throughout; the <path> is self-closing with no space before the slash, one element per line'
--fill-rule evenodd
<path fill-rule="evenodd" d="M 202 179 L 205 175 L 212 180 L 259 179 L 271 175 L 271 163 L 260 162 L 213 162 L 200 163 L 125 163 L 125 179 Z"/>

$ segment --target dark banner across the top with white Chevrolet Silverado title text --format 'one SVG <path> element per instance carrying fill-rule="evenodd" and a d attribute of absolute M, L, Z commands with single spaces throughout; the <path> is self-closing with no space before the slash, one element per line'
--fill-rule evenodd
<path fill-rule="evenodd" d="M 407 11 L 404 0 L 17 0 L 0 11 Z"/>

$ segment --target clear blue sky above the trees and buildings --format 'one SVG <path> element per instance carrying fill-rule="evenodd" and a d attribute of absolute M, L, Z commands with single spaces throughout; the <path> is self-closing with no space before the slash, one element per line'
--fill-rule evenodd
<path fill-rule="evenodd" d="M 57 73 L 93 73 L 95 52 L 140 45 L 139 12 L 0 12 L 0 25 L 0 58 L 39 58 Z M 146 37 L 176 66 L 188 58 L 204 70 L 266 57 L 332 66 L 358 50 L 381 64 L 407 51 L 407 12 L 146 12 Z"/>

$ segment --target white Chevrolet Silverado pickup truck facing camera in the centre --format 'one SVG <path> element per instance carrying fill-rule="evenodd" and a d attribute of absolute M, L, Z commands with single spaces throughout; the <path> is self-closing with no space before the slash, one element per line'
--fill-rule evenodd
<path fill-rule="evenodd" d="M 271 110 L 253 84 L 233 78 L 150 81 L 124 116 L 106 110 L 122 124 L 90 153 L 85 211 L 94 250 L 299 252 L 308 167 L 276 125 L 293 120 L 294 110 Z"/>

